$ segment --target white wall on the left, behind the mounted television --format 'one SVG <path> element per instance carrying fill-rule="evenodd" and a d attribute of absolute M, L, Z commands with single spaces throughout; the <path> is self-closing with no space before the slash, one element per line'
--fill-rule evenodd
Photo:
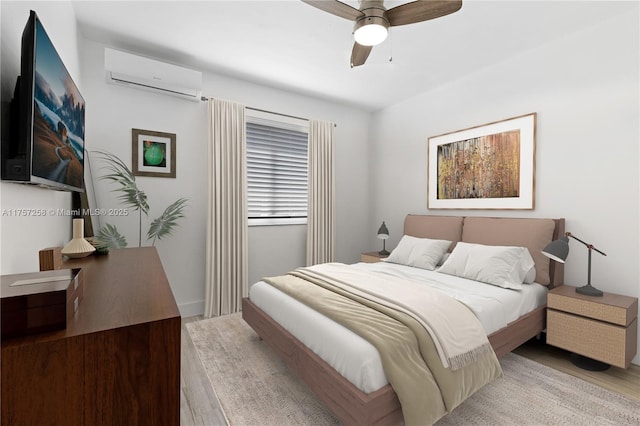
<path fill-rule="evenodd" d="M 8 133 L 8 103 L 20 74 L 22 31 L 29 10 L 38 14 L 69 74 L 82 93 L 79 46 L 75 14 L 71 3 L 0 2 L 0 95 L 2 99 L 2 137 Z M 38 251 L 64 246 L 71 238 L 71 217 L 47 214 L 42 217 L 14 216 L 15 209 L 71 209 L 71 194 L 39 187 L 0 183 L 0 273 L 34 272 L 39 269 Z"/>

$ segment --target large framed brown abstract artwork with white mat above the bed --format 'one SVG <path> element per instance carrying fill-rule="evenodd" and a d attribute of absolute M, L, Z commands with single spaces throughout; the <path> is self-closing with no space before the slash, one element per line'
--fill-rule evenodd
<path fill-rule="evenodd" d="M 536 113 L 428 140 L 427 208 L 535 206 Z"/>

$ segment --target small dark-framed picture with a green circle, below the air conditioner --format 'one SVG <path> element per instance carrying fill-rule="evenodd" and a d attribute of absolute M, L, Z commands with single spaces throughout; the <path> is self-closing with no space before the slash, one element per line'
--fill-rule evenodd
<path fill-rule="evenodd" d="M 176 177 L 176 135 L 131 129 L 134 176 Z"/>

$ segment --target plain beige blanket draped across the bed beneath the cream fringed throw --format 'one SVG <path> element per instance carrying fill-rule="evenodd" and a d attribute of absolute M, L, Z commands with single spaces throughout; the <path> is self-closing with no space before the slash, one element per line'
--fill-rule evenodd
<path fill-rule="evenodd" d="M 502 374 L 493 350 L 484 355 L 478 351 L 474 354 L 476 362 L 458 370 L 444 367 L 434 339 L 412 315 L 344 290 L 336 284 L 339 280 L 322 277 L 324 274 L 317 270 L 301 268 L 264 281 L 358 334 L 378 350 L 387 379 L 402 405 L 406 426 L 435 423 Z"/>

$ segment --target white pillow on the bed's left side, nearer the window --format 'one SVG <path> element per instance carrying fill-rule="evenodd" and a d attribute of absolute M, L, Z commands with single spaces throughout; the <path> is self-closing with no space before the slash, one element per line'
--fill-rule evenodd
<path fill-rule="evenodd" d="M 387 262 L 433 271 L 451 245 L 451 241 L 431 240 L 403 235 Z"/>

